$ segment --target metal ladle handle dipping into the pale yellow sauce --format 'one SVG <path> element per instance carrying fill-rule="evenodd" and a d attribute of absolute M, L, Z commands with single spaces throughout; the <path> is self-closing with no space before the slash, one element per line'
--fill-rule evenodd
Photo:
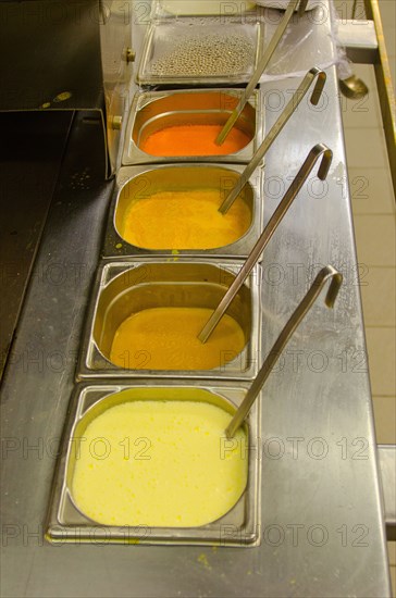
<path fill-rule="evenodd" d="M 245 399 L 238 407 L 237 411 L 235 412 L 235 415 L 233 416 L 228 426 L 225 429 L 225 434 L 227 438 L 232 438 L 235 435 L 235 432 L 240 426 L 240 424 L 244 422 L 246 415 L 249 413 L 251 409 L 251 406 L 253 404 L 261 388 L 263 387 L 268 376 L 270 375 L 272 367 L 276 363 L 280 357 L 280 353 L 283 351 L 285 345 L 289 340 L 290 336 L 294 334 L 295 329 L 297 328 L 301 320 L 305 317 L 307 312 L 311 309 L 313 302 L 315 301 L 317 297 L 321 292 L 323 286 L 329 281 L 329 278 L 331 278 L 332 282 L 324 301 L 329 308 L 334 307 L 334 302 L 338 295 L 339 287 L 343 284 L 343 275 L 337 270 L 335 270 L 332 265 L 326 265 L 320 271 L 315 279 L 313 281 L 311 288 L 309 289 L 309 291 L 307 292 L 307 295 L 305 296 L 305 298 L 302 299 L 302 301 L 300 302 L 296 311 L 293 313 L 286 326 L 283 328 L 282 333 L 280 334 L 276 342 L 272 347 L 268 358 L 265 359 L 263 365 L 261 366 L 261 370 L 256 376 L 255 382 L 250 386 Z"/>

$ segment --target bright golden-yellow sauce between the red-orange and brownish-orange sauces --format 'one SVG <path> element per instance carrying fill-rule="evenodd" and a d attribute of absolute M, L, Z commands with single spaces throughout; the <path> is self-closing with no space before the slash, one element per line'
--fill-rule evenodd
<path fill-rule="evenodd" d="M 221 214 L 220 189 L 161 191 L 133 202 L 121 236 L 146 249 L 213 249 L 230 245 L 249 229 L 251 212 L 238 198 Z"/>

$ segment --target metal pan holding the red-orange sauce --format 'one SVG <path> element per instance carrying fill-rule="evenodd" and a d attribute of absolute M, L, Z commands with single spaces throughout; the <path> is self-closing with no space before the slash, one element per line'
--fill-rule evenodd
<path fill-rule="evenodd" d="M 137 92 L 132 103 L 125 134 L 122 162 L 156 164 L 163 162 L 250 162 L 263 138 L 263 113 L 260 91 L 245 105 L 236 127 L 249 142 L 234 153 L 196 155 L 152 155 L 141 149 L 150 135 L 166 127 L 182 125 L 219 125 L 222 127 L 243 95 L 242 89 L 188 89 Z M 191 137 L 189 147 L 194 147 Z M 188 151 L 189 151 L 188 147 Z"/>

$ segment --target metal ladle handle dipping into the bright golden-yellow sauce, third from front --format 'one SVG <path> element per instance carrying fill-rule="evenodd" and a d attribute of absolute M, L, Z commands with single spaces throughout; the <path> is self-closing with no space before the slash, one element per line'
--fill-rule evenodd
<path fill-rule="evenodd" d="M 302 82 L 296 89 L 296 91 L 293 94 L 293 97 L 288 104 L 286 105 L 285 110 L 282 112 L 281 116 L 277 119 L 275 124 L 272 126 L 271 130 L 267 135 L 265 139 L 262 141 L 261 146 L 256 151 L 255 155 L 252 157 L 249 164 L 246 166 L 242 175 L 239 176 L 235 187 L 230 191 L 228 196 L 224 199 L 223 203 L 219 208 L 219 212 L 222 214 L 225 214 L 243 188 L 245 187 L 246 183 L 249 180 L 250 176 L 255 172 L 255 169 L 260 164 L 261 160 L 272 146 L 273 141 L 276 139 L 292 114 L 295 112 L 299 103 L 301 102 L 302 98 L 306 96 L 308 89 L 311 87 L 312 82 L 318 77 L 317 84 L 313 88 L 310 101 L 313 105 L 315 105 L 319 102 L 319 99 L 322 95 L 322 90 L 324 87 L 324 84 L 326 82 L 326 74 L 324 71 L 321 71 L 320 68 L 317 68 L 314 66 L 304 77 Z"/>

